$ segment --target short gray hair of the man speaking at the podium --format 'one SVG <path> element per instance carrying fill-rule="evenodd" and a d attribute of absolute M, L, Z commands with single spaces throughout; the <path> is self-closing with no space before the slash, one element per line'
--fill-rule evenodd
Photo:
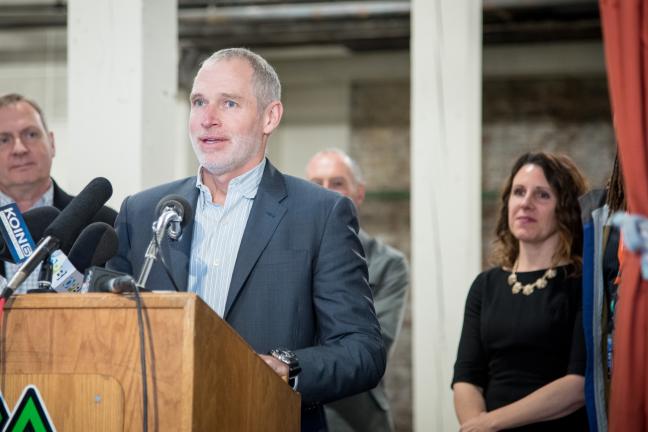
<path fill-rule="evenodd" d="M 246 60 L 252 67 L 254 72 L 254 93 L 259 109 L 267 107 L 272 101 L 281 101 L 281 82 L 277 72 L 266 59 L 247 48 L 225 48 L 216 51 L 203 64 L 236 58 Z"/>

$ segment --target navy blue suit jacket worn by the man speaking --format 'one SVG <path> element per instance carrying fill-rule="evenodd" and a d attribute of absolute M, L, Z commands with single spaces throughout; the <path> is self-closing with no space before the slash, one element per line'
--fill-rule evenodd
<path fill-rule="evenodd" d="M 126 198 L 117 217 L 119 252 L 108 266 L 138 275 L 158 201 L 184 196 L 195 208 L 190 177 Z M 281 174 L 266 163 L 245 227 L 224 319 L 258 353 L 285 347 L 302 366 L 302 430 L 324 430 L 320 404 L 368 390 L 385 370 L 367 266 L 350 200 Z M 166 250 L 186 290 L 193 221 Z M 173 289 L 159 260 L 147 287 Z"/>

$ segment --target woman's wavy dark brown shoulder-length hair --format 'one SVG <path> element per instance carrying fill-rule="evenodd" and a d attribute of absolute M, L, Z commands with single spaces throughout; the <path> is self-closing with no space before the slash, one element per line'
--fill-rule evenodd
<path fill-rule="evenodd" d="M 568 156 L 548 152 L 525 153 L 513 164 L 500 195 L 499 216 L 495 226 L 496 239 L 491 260 L 496 265 L 512 268 L 520 252 L 518 240 L 509 229 L 508 201 L 513 178 L 525 165 L 540 167 L 556 194 L 556 221 L 560 241 L 552 265 L 567 260 L 579 270 L 583 249 L 583 226 L 578 197 L 585 193 L 587 181 Z"/>

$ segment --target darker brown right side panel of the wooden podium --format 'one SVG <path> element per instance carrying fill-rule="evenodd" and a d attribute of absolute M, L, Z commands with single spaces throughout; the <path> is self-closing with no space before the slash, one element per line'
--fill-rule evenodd
<path fill-rule="evenodd" d="M 300 430 L 299 393 L 202 301 L 196 302 L 195 329 L 194 430 L 214 424 L 224 431 Z"/>

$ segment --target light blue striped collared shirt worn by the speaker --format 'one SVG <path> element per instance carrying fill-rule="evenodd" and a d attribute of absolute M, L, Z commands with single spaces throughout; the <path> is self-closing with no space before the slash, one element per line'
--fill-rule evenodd
<path fill-rule="evenodd" d="M 214 204 L 198 170 L 196 204 L 188 289 L 195 292 L 217 314 L 225 312 L 227 293 L 234 273 L 243 232 L 261 183 L 265 158 L 250 171 L 232 179 L 225 205 Z"/>

